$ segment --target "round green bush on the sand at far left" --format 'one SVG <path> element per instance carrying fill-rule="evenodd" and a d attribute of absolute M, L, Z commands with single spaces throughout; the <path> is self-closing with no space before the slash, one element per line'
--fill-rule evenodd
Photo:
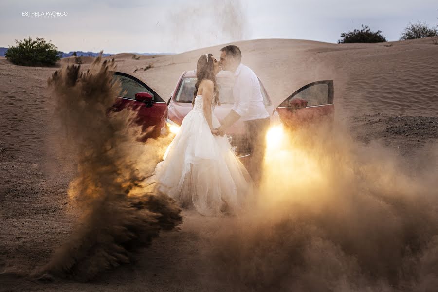
<path fill-rule="evenodd" d="M 36 40 L 32 40 L 29 37 L 15 42 L 17 45 L 9 46 L 5 56 L 16 65 L 53 66 L 61 59 L 58 48 L 44 38 L 37 37 Z"/>

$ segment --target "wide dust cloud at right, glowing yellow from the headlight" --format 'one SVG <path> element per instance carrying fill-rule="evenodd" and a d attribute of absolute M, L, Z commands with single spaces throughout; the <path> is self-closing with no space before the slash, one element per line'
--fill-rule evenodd
<path fill-rule="evenodd" d="M 232 291 L 436 290 L 436 148 L 419 177 L 339 127 L 275 126 L 268 137 L 256 205 L 206 239 L 214 281 Z"/>

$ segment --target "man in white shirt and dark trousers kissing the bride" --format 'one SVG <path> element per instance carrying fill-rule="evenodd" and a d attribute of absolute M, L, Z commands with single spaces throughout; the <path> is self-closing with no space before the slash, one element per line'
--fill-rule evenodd
<path fill-rule="evenodd" d="M 225 117 L 217 134 L 223 136 L 228 127 L 238 119 L 245 123 L 248 143 L 252 155 L 248 172 L 255 183 L 260 183 L 263 155 L 265 152 L 265 136 L 269 128 L 269 113 L 265 109 L 260 82 L 256 73 L 241 63 L 242 53 L 237 46 L 229 45 L 220 49 L 219 65 L 222 70 L 234 73 L 233 87 L 234 106 Z"/>

